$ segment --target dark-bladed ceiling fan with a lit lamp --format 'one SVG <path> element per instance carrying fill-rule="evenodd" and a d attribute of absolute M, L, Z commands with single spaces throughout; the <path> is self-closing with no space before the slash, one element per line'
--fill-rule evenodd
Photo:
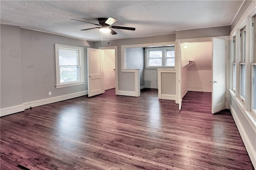
<path fill-rule="evenodd" d="M 74 19 L 71 19 L 71 20 L 74 20 Z M 86 23 L 89 23 L 89 24 L 94 24 L 92 22 L 81 21 L 81 20 L 75 20 L 75 21 L 80 21 L 80 22 L 86 22 Z M 99 24 L 94 24 L 94 25 L 100 26 L 100 27 L 87 28 L 87 29 L 83 29 L 81 31 L 92 30 L 92 29 L 98 28 L 101 32 L 104 32 L 104 33 L 110 32 L 110 34 L 112 34 L 112 35 L 115 35 L 117 33 L 114 30 L 112 30 L 111 28 L 135 31 L 135 28 L 132 28 L 132 27 L 111 26 L 116 21 L 117 20 L 115 18 L 111 18 L 111 17 L 109 17 L 109 18 L 98 18 Z"/>

